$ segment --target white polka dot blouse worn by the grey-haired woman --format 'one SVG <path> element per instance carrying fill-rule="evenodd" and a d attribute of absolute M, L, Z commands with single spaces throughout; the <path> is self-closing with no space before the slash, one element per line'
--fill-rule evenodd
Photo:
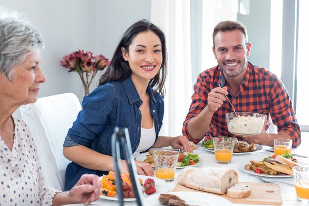
<path fill-rule="evenodd" d="M 0 206 L 52 206 L 59 191 L 46 186 L 27 124 L 16 116 L 13 119 L 12 151 L 0 137 Z"/>

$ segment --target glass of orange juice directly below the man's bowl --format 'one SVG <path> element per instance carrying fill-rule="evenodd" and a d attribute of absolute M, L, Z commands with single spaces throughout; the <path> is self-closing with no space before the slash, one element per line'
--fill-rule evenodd
<path fill-rule="evenodd" d="M 235 138 L 232 137 L 214 137 L 215 159 L 217 163 L 231 163 Z"/>

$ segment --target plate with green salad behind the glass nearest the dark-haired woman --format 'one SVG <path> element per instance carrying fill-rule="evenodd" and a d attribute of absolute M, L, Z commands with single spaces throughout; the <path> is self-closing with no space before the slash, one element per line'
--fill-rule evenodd
<path fill-rule="evenodd" d="M 149 163 L 154 167 L 154 150 L 149 150 L 148 152 L 139 154 L 135 159 L 137 161 L 143 161 L 144 163 Z M 197 166 L 202 164 L 203 158 L 197 154 L 192 154 L 189 152 L 179 153 L 177 169 L 185 168 L 189 166 Z"/>

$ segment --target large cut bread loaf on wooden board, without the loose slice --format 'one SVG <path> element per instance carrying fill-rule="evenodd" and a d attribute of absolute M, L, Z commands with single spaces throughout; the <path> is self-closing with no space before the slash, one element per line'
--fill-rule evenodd
<path fill-rule="evenodd" d="M 238 174 L 233 169 L 222 167 L 187 167 L 179 173 L 178 182 L 195 190 L 225 194 L 238 183 Z"/>

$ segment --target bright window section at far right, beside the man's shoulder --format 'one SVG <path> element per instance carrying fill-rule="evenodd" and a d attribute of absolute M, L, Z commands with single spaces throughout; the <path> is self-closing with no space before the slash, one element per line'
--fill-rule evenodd
<path fill-rule="evenodd" d="M 309 32 L 307 23 L 309 1 L 283 0 L 282 2 L 282 64 L 280 79 L 293 100 L 297 121 L 302 131 L 309 131 L 306 89 L 306 82 L 309 77 L 306 64 L 309 55 L 307 49 L 309 46 L 307 39 Z"/>

